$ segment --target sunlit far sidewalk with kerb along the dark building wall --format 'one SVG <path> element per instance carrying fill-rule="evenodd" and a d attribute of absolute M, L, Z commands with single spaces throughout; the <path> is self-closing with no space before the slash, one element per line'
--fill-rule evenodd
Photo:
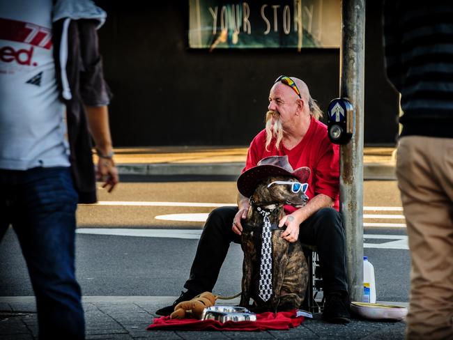
<path fill-rule="evenodd" d="M 122 175 L 238 176 L 245 164 L 245 146 L 162 146 L 115 148 Z M 394 180 L 394 148 L 364 148 L 366 180 Z"/>

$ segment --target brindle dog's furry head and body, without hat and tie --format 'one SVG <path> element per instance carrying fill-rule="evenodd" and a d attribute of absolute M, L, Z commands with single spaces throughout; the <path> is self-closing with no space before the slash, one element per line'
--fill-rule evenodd
<path fill-rule="evenodd" d="M 291 192 L 290 185 L 268 184 L 275 180 L 293 180 L 289 176 L 270 176 L 263 180 L 254 191 L 245 224 L 252 226 L 243 230 L 241 235 L 241 247 L 244 252 L 243 280 L 240 306 L 247 307 L 252 311 L 287 311 L 298 309 L 305 299 L 305 291 L 308 283 L 308 266 L 300 242 L 288 242 L 282 238 L 284 226 L 272 230 L 272 296 L 267 302 L 259 297 L 259 271 L 261 261 L 261 231 L 263 216 L 256 210 L 272 207 L 269 219 L 271 224 L 279 223 L 284 216 L 283 206 L 305 206 L 308 197 L 302 192 Z M 255 230 L 256 229 L 256 230 Z M 250 305 L 250 297 L 254 305 Z"/>

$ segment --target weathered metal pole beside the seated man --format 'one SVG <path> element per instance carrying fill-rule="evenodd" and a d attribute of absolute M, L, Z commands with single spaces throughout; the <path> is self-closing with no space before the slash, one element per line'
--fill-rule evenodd
<path fill-rule="evenodd" d="M 353 136 L 340 146 L 340 212 L 351 301 L 363 295 L 363 98 L 365 0 L 341 1 L 340 97 L 354 107 Z"/>

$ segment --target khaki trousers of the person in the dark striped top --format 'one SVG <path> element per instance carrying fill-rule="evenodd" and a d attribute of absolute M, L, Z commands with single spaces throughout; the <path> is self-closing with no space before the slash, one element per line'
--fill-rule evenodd
<path fill-rule="evenodd" d="M 406 339 L 453 339 L 453 139 L 401 138 L 397 178 L 411 256 Z"/>

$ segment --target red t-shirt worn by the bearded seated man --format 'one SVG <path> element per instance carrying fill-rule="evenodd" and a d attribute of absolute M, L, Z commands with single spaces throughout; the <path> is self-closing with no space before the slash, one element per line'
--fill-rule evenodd
<path fill-rule="evenodd" d="M 291 150 L 283 144 L 280 144 L 280 150 L 277 150 L 275 139 L 272 139 L 269 150 L 266 150 L 266 130 L 262 130 L 249 146 L 243 172 L 255 167 L 265 157 L 284 155 L 288 156 L 293 169 L 309 167 L 312 171 L 307 180 L 306 194 L 309 199 L 317 194 L 325 194 L 335 201 L 334 208 L 339 210 L 339 146 L 330 142 L 327 126 L 312 117 L 302 141 Z M 296 209 L 293 206 L 285 206 L 288 213 Z"/>

